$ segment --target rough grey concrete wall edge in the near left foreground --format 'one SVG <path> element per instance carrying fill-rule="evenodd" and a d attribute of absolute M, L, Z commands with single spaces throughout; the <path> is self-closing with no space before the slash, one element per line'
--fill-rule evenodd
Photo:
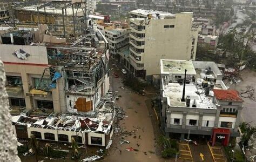
<path fill-rule="evenodd" d="M 5 72 L 3 68 L 4 64 L 0 60 L 0 150 L 1 161 L 20 162 L 17 151 L 17 138 L 12 132 L 11 114 L 9 112 L 9 100 L 8 94 L 5 90 Z"/>

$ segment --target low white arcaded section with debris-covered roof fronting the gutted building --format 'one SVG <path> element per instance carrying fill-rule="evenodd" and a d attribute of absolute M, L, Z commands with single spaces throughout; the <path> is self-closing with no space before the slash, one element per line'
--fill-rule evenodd
<path fill-rule="evenodd" d="M 114 109 L 110 102 L 101 102 L 98 110 L 90 114 L 52 113 L 45 118 L 13 116 L 12 130 L 19 139 L 31 134 L 40 140 L 107 146 L 112 143 Z"/>

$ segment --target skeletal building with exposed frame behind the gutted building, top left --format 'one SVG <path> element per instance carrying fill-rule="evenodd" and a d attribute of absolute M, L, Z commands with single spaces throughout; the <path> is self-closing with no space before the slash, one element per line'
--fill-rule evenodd
<path fill-rule="evenodd" d="M 91 4 L 90 4 L 91 5 Z M 90 6 L 88 5 L 88 6 Z M 47 24 L 48 32 L 58 37 L 78 37 L 86 28 L 86 1 L 25 1 L 12 6 L 10 21 L 5 24 L 37 28 Z M 90 6 L 90 8 L 92 8 Z M 90 8 L 89 11 L 91 10 Z"/>

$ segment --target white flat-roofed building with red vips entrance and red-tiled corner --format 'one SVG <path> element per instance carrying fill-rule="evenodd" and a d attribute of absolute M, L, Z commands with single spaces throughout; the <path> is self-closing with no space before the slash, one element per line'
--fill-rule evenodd
<path fill-rule="evenodd" d="M 207 135 L 212 145 L 220 141 L 225 146 L 239 136 L 243 100 L 227 90 L 222 78 L 214 62 L 161 60 L 160 118 L 166 136 Z"/>

